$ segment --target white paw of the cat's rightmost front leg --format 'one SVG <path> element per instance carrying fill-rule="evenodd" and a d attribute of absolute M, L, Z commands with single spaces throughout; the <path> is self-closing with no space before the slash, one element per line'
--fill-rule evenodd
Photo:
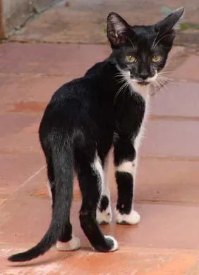
<path fill-rule="evenodd" d="M 119 210 L 116 210 L 116 222 L 118 224 L 138 224 L 140 222 L 140 215 L 134 210 L 131 210 L 131 213 L 128 215 L 121 215 Z"/>

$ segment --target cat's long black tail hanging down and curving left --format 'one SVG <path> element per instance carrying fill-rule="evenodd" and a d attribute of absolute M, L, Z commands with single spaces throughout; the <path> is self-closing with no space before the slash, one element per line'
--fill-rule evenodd
<path fill-rule="evenodd" d="M 62 149 L 58 151 L 56 148 L 53 154 L 56 194 L 49 229 L 40 243 L 33 248 L 8 257 L 11 262 L 25 262 L 43 255 L 59 240 L 64 232 L 73 197 L 73 152 L 71 148 Z"/>

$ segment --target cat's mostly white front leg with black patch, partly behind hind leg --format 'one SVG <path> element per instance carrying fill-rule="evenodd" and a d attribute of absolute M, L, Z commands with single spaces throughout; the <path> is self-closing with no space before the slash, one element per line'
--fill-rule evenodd
<path fill-rule="evenodd" d="M 98 224 L 109 224 L 112 219 L 111 211 L 111 198 L 109 191 L 109 169 L 111 162 L 111 151 L 107 154 L 107 157 L 104 160 L 103 172 L 104 172 L 104 182 L 102 184 L 102 194 L 100 202 L 97 206 L 97 222 Z"/>

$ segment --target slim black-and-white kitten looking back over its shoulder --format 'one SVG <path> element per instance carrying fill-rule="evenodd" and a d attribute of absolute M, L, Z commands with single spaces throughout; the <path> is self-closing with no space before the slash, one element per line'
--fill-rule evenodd
<path fill-rule="evenodd" d="M 118 188 L 116 222 L 140 221 L 133 210 L 138 146 L 150 90 L 158 83 L 182 15 L 179 8 L 155 25 L 131 26 L 118 14 L 109 14 L 111 56 L 59 88 L 40 124 L 52 191 L 52 222 L 40 243 L 8 260 L 31 260 L 54 244 L 59 250 L 80 248 L 70 223 L 74 172 L 82 193 L 80 225 L 85 235 L 95 250 L 118 248 L 116 240 L 104 236 L 98 225 L 111 222 L 107 165 L 112 146 Z"/>

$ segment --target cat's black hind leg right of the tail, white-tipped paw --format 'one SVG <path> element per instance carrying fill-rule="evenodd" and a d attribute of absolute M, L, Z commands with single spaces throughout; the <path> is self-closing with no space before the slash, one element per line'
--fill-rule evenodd
<path fill-rule="evenodd" d="M 95 154 L 92 160 L 84 155 L 77 165 L 80 191 L 83 202 L 80 209 L 80 225 L 92 247 L 100 252 L 114 251 L 118 248 L 112 236 L 104 236 L 96 220 L 97 205 L 102 191 L 104 175 L 100 158 Z"/>

